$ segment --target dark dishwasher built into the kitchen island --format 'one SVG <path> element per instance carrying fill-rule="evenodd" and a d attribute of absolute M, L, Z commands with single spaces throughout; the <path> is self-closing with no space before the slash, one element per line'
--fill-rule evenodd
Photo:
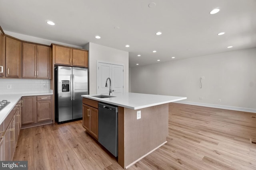
<path fill-rule="evenodd" d="M 98 141 L 115 157 L 118 146 L 118 107 L 110 104 L 98 104 Z"/>

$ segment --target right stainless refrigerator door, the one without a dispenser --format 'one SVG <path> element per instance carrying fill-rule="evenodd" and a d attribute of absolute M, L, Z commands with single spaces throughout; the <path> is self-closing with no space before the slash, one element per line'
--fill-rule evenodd
<path fill-rule="evenodd" d="M 73 67 L 73 119 L 82 118 L 82 97 L 88 94 L 88 68 Z"/>

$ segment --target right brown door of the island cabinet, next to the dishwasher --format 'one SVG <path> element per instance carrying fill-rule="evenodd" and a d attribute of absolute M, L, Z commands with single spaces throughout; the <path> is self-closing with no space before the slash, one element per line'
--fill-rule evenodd
<path fill-rule="evenodd" d="M 98 109 L 90 107 L 90 133 L 98 139 Z"/>

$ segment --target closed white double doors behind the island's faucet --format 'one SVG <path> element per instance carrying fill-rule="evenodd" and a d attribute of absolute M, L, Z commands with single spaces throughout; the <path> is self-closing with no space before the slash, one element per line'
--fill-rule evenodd
<path fill-rule="evenodd" d="M 124 66 L 98 62 L 97 71 L 97 94 L 109 94 L 109 80 L 108 87 L 105 87 L 108 77 L 111 79 L 112 90 L 114 90 L 112 94 L 124 92 Z"/>

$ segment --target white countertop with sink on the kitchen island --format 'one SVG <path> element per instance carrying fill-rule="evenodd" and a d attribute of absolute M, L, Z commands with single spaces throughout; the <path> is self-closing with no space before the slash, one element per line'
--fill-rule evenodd
<path fill-rule="evenodd" d="M 116 94 L 113 94 L 113 96 L 115 97 L 112 97 L 112 98 L 93 97 L 98 95 L 100 94 L 82 95 L 82 97 L 92 99 L 92 100 L 97 100 L 99 102 L 113 104 L 116 106 L 126 107 L 129 109 L 134 109 L 134 110 L 186 99 L 186 97 L 179 97 L 179 96 L 163 96 L 163 95 L 141 94 L 141 93 L 124 93 L 124 94 L 116 93 Z M 107 95 L 104 95 L 104 96 L 107 96 Z"/>

